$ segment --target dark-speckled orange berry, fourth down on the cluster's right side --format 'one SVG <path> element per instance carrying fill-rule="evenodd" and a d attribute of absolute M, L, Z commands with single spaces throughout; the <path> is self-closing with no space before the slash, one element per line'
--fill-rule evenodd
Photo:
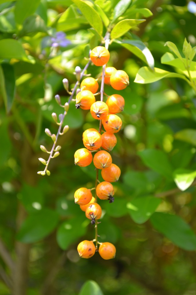
<path fill-rule="evenodd" d="M 102 120 L 105 131 L 109 133 L 116 133 L 122 126 L 122 120 L 115 114 L 109 114 Z"/>

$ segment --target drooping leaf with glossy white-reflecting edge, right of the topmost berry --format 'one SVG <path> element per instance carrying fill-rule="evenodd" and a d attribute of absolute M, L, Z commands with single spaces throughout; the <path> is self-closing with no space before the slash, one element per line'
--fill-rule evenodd
<path fill-rule="evenodd" d="M 138 58 L 143 60 L 149 65 L 150 68 L 154 68 L 154 58 L 148 47 L 140 40 L 115 40 L 118 44 L 127 48 L 130 52 L 135 54 Z"/>

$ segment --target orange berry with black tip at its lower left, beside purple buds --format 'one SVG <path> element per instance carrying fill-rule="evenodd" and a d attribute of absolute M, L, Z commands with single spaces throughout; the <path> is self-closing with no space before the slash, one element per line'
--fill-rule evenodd
<path fill-rule="evenodd" d="M 76 95 L 76 109 L 89 110 L 93 102 L 95 102 L 95 96 L 89 90 L 80 91 Z"/>

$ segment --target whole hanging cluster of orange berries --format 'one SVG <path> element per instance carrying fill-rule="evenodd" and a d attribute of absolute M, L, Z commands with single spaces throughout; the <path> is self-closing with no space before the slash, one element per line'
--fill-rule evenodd
<path fill-rule="evenodd" d="M 101 90 L 97 93 L 99 85 L 96 79 L 85 78 L 80 85 L 81 91 L 76 95 L 76 108 L 90 109 L 92 117 L 100 120 L 100 125 L 99 131 L 90 128 L 83 132 L 85 148 L 75 152 L 75 165 L 86 167 L 93 161 L 95 167 L 101 170 L 101 175 L 105 180 L 96 185 L 96 196 L 112 203 L 114 201 L 114 189 L 111 182 L 118 181 L 120 168 L 112 163 L 111 155 L 108 152 L 116 145 L 117 140 L 114 133 L 118 132 L 122 126 L 122 121 L 116 113 L 123 111 L 125 101 L 121 95 L 113 94 L 108 97 L 106 102 L 103 102 L 103 86 L 105 83 L 116 90 L 125 89 L 129 85 L 129 78 L 124 71 L 116 70 L 114 67 L 105 67 L 110 58 L 107 48 L 103 46 L 95 47 L 91 51 L 90 58 L 95 65 L 103 66 Z M 101 94 L 101 101 L 96 101 L 96 94 Z M 102 124 L 105 129 L 103 134 L 101 134 Z M 94 157 L 92 151 L 96 151 Z M 100 219 L 102 214 L 101 207 L 97 203 L 97 197 L 94 198 L 91 190 L 86 188 L 80 188 L 74 194 L 75 203 L 80 205 L 81 210 L 85 211 L 86 217 L 91 220 L 91 224 L 96 224 L 96 226 L 97 220 Z M 99 251 L 103 259 L 114 258 L 115 246 L 109 242 L 99 243 L 96 239 L 79 243 L 78 253 L 80 257 L 90 258 L 96 251 Z M 93 242 L 96 242 L 96 246 Z M 99 249 L 97 249 L 97 244 L 99 244 Z"/>

